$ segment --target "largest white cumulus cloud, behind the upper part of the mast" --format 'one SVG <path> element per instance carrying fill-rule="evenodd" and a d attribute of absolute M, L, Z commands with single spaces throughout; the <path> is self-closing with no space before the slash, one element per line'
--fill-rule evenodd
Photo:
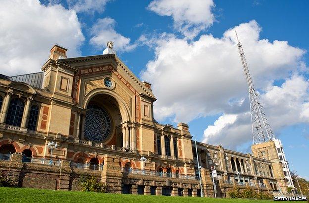
<path fill-rule="evenodd" d="M 267 91 L 266 96 L 270 97 L 275 91 L 272 89 L 274 81 L 285 80 L 291 73 L 299 71 L 305 51 L 290 46 L 287 41 L 260 39 L 261 27 L 256 21 L 229 29 L 220 38 L 211 34 L 201 35 L 192 42 L 170 34 L 162 34 L 155 39 L 143 36 L 146 44 L 154 43 L 155 47 L 155 59 L 148 62 L 141 78 L 152 83 L 158 98 L 154 103 L 157 120 L 189 122 L 198 117 L 223 113 L 214 125 L 217 131 L 213 131 L 212 127 L 212 131 L 211 128 L 206 131 L 213 143 L 219 135 L 235 136 L 235 140 L 244 136 L 248 137 L 247 141 L 251 139 L 248 86 L 236 45 L 235 29 L 242 41 L 255 87 L 262 93 Z M 293 78 L 293 81 L 296 82 L 296 79 Z M 298 100 L 301 104 L 302 101 L 304 99 Z M 306 109 L 306 105 L 302 108 Z M 222 136 L 218 140 L 223 143 Z M 225 146 L 237 145 L 237 142 L 229 143 L 228 140 L 231 139 L 223 143 Z"/>

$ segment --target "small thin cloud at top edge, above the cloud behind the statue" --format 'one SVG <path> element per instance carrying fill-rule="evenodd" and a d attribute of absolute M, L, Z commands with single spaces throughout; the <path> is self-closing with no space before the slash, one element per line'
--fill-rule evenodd
<path fill-rule="evenodd" d="M 67 0 L 67 3 L 77 13 L 102 13 L 108 1 L 111 0 Z"/>

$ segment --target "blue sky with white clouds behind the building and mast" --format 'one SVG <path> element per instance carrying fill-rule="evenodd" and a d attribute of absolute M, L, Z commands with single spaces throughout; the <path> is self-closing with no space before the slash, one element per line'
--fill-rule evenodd
<path fill-rule="evenodd" d="M 152 83 L 159 122 L 187 122 L 198 141 L 248 153 L 252 135 L 237 29 L 275 136 L 309 179 L 308 1 L 29 2 L 5 0 L 0 10 L 0 40 L 11 41 L 0 44 L 4 74 L 39 71 L 54 43 L 69 56 L 85 56 L 102 54 L 114 40 L 118 56 Z M 23 20 L 28 26 L 21 29 Z M 33 53 L 25 54 L 29 46 Z M 18 61 L 29 65 L 20 69 Z"/>

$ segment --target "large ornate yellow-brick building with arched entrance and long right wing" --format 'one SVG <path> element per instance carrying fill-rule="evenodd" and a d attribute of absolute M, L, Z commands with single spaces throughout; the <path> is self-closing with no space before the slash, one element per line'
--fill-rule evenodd
<path fill-rule="evenodd" d="M 204 143 L 197 158 L 189 126 L 154 120 L 151 84 L 112 44 L 103 55 L 67 58 L 66 51 L 53 46 L 42 72 L 0 75 L 0 171 L 19 186 L 77 190 L 87 173 L 117 193 L 226 197 L 235 185 L 286 192 L 277 158 Z"/>

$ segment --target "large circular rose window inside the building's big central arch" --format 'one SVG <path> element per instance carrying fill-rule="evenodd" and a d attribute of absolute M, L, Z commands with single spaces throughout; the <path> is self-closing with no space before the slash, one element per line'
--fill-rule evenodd
<path fill-rule="evenodd" d="M 103 107 L 96 104 L 88 105 L 87 109 L 84 138 L 94 142 L 101 142 L 110 134 L 110 117 Z"/>

